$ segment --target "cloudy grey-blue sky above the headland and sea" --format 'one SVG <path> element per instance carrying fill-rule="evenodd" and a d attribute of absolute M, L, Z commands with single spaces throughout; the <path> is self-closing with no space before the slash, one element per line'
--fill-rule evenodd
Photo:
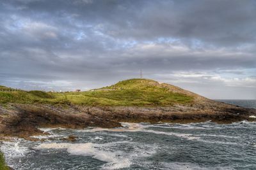
<path fill-rule="evenodd" d="M 1 0 L 0 84 L 89 90 L 143 78 L 256 99 L 256 1 Z"/>

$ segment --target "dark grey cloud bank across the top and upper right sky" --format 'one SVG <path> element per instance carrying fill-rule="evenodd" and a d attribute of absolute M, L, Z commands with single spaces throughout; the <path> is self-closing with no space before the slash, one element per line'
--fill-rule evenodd
<path fill-rule="evenodd" d="M 102 31 L 115 38 L 175 37 L 227 46 L 255 41 L 255 1 L 12 1 L 12 5 L 26 6 L 19 15 L 36 13 L 35 19 L 65 26 L 102 24 Z"/>

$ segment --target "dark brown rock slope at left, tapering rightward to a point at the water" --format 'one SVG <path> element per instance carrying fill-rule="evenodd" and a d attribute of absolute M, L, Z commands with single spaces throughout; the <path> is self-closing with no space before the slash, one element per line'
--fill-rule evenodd
<path fill-rule="evenodd" d="M 29 136 L 47 134 L 38 127 L 81 129 L 88 126 L 111 128 L 121 125 L 108 118 L 95 117 L 71 107 L 64 109 L 50 105 L 12 104 L 8 109 L 1 108 L 0 113 L 0 134 L 4 136 L 29 139 Z"/>

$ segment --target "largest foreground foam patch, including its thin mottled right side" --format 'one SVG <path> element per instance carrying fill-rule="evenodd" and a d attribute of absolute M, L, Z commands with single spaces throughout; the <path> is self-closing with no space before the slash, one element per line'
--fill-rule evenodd
<path fill-rule="evenodd" d="M 125 145 L 124 145 L 125 144 Z M 122 151 L 124 146 L 130 152 Z M 120 150 L 118 150 L 120 148 Z M 131 166 L 131 162 L 138 157 L 148 157 L 156 153 L 157 145 L 147 145 L 132 141 L 115 141 L 104 144 L 97 143 L 42 143 L 35 149 L 64 149 L 71 155 L 89 156 L 107 162 L 102 169 L 120 169 Z"/>

